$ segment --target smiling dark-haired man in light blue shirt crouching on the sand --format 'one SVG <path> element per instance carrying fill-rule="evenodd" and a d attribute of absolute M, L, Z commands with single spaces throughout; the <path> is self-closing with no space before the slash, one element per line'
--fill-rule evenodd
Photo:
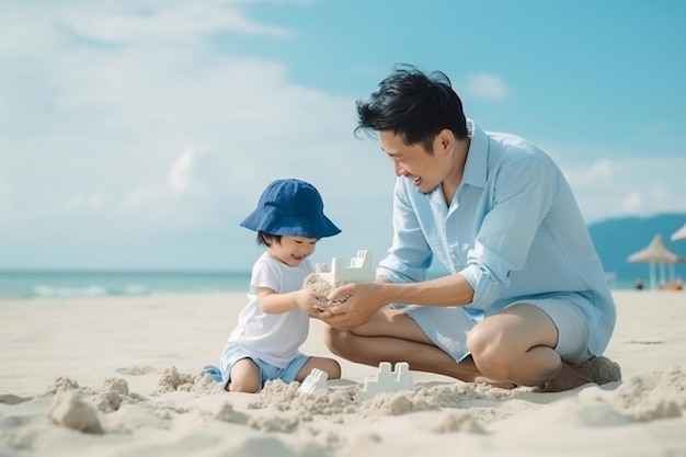
<path fill-rule="evenodd" d="M 345 300 L 323 316 L 329 349 L 507 388 L 597 382 L 580 365 L 607 361 L 615 305 L 553 161 L 467 119 L 442 72 L 398 66 L 357 113 L 398 176 L 393 242 L 376 282 L 329 296 Z M 426 281 L 434 260 L 449 274 Z"/>

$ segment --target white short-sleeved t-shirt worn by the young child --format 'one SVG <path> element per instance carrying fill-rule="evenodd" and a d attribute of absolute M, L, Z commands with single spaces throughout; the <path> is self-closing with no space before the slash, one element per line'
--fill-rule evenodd
<path fill-rule="evenodd" d="M 305 260 L 298 266 L 288 266 L 266 252 L 252 267 L 248 305 L 238 316 L 238 325 L 229 335 L 228 344 L 240 344 L 255 357 L 285 368 L 299 354 L 310 328 L 308 312 L 298 307 L 279 315 L 267 315 L 258 304 L 258 287 L 268 287 L 277 294 L 302 288 L 302 281 L 312 273 L 312 264 Z"/>

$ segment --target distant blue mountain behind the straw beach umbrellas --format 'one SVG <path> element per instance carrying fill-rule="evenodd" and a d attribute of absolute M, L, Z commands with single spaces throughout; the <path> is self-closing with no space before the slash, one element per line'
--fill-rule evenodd
<path fill-rule="evenodd" d="M 645 218 L 622 217 L 592 224 L 588 226 L 588 231 L 606 272 L 615 274 L 619 283 L 633 282 L 637 277 L 648 283 L 649 265 L 629 263 L 628 256 L 648 247 L 658 233 L 662 235 L 670 251 L 686 256 L 686 240 L 670 240 L 672 233 L 685 222 L 686 213 L 662 214 Z M 670 269 L 667 267 L 667 272 Z M 659 269 L 655 271 L 659 277 Z M 686 278 L 686 264 L 675 265 L 675 272 L 679 277 Z"/>

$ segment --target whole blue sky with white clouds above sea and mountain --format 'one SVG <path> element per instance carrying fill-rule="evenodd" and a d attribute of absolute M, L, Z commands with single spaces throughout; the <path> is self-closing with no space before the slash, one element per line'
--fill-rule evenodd
<path fill-rule="evenodd" d="M 442 70 L 560 164 L 588 222 L 686 212 L 681 1 L 4 1 L 0 269 L 245 270 L 271 181 L 321 191 L 317 261 L 390 242 L 354 103 Z M 649 240 L 647 240 L 648 242 Z"/>

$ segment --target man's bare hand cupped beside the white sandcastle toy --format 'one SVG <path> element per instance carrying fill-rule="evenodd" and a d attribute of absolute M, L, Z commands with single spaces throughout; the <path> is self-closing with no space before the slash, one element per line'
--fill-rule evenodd
<path fill-rule="evenodd" d="M 387 305 L 379 297 L 376 283 L 350 283 L 336 287 L 329 294 L 331 307 L 321 315 L 321 320 L 339 330 L 351 330 L 371 319 Z"/>

